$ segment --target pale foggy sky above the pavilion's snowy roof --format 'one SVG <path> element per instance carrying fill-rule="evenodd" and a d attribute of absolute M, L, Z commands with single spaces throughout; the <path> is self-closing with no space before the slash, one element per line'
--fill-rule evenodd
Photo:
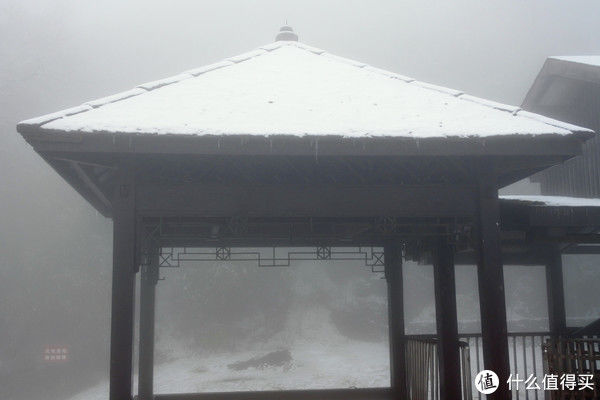
<path fill-rule="evenodd" d="M 307 44 L 516 104 L 546 56 L 600 54 L 598 16 L 595 0 L 3 0 L 0 80 L 60 80 L 69 106 L 253 49 L 287 19 Z"/>

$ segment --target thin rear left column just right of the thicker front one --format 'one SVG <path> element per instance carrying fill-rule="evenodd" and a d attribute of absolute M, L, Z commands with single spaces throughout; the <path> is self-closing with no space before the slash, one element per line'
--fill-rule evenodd
<path fill-rule="evenodd" d="M 151 249 L 149 264 L 142 266 L 140 279 L 140 354 L 138 395 L 139 400 L 154 398 L 154 310 L 156 283 L 158 282 L 158 252 Z"/>

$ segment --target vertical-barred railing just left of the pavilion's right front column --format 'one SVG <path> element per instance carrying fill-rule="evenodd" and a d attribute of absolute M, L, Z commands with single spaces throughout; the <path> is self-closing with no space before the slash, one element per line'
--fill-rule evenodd
<path fill-rule="evenodd" d="M 467 342 L 460 341 L 460 372 L 462 399 L 471 400 L 471 363 Z M 406 380 L 410 400 L 440 398 L 437 339 L 408 337 L 406 340 Z"/>

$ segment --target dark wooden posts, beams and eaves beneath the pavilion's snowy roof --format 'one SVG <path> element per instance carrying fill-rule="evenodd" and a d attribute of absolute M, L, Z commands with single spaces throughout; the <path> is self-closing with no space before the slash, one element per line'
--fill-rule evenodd
<path fill-rule="evenodd" d="M 438 329 L 441 338 L 441 372 L 444 395 L 453 396 L 456 391 L 455 325 L 456 304 L 450 290 L 452 265 L 449 246 L 465 243 L 449 243 L 456 236 L 470 237 L 471 247 L 478 254 L 480 272 L 480 300 L 484 327 L 484 352 L 486 366 L 496 369 L 501 380 L 508 374 L 506 342 L 506 315 L 502 284 L 502 243 L 498 221 L 501 207 L 498 201 L 499 186 L 512 183 L 549 165 L 556 164 L 579 154 L 581 143 L 591 135 L 576 132 L 572 135 L 510 135 L 503 137 L 471 138 L 342 138 L 295 137 L 295 136 L 184 136 L 184 135 L 135 135 L 108 132 L 81 133 L 47 131 L 40 127 L 19 125 L 18 130 L 35 150 L 84 196 L 102 214 L 114 221 L 114 261 L 111 325 L 111 400 L 129 399 L 131 393 L 133 349 L 133 299 L 134 278 L 140 265 L 141 232 L 139 221 L 144 218 L 337 218 L 354 221 L 368 218 L 403 218 L 409 220 L 411 229 L 410 256 L 433 252 L 437 255 L 436 285 L 440 290 L 438 302 Z M 288 157 L 293 166 L 296 160 L 312 160 L 315 165 L 328 158 L 347 164 L 343 180 L 336 182 L 331 176 L 327 184 L 307 179 L 304 184 L 261 182 L 260 173 L 253 175 L 250 185 L 239 182 L 210 184 L 200 181 L 186 182 L 180 176 L 166 183 L 152 181 L 152 172 L 146 179 L 136 181 L 143 175 L 148 161 L 161 159 L 164 163 L 177 163 L 178 157 L 192 160 L 202 157 L 226 156 L 232 160 L 250 157 L 266 163 L 274 156 Z M 356 171 L 352 159 L 366 159 L 369 169 Z M 378 183 L 377 175 L 390 168 L 387 159 L 422 160 L 438 163 L 456 177 L 440 182 L 436 172 L 419 171 L 418 176 L 407 177 L 391 174 L 385 183 Z M 339 169 L 330 175 L 339 173 Z M 366 171 L 366 172 L 365 172 Z M 260 172 L 260 171 L 259 171 Z M 410 171 L 409 171 L 410 172 Z M 241 175 L 244 171 L 239 171 Z M 325 171 L 327 173 L 327 171 Z M 350 176 L 351 178 L 348 178 Z M 150 178 L 150 179 L 148 179 Z M 348 184 L 347 181 L 354 183 Z M 461 220 L 456 223 L 456 220 Z M 137 222 L 136 222 L 137 221 Z M 464 221 L 467 221 L 466 223 Z M 455 232 L 456 226 L 472 227 L 472 233 Z M 440 226 L 446 227 L 436 232 Z M 427 228 L 427 229 L 418 229 Z M 516 228 L 515 228 L 516 229 Z M 520 228 L 519 228 L 520 229 Z M 544 231 L 545 232 L 545 231 Z M 544 233 L 543 232 L 543 233 Z M 406 232 L 405 232 L 406 233 Z M 547 232 L 546 232 L 547 233 Z M 571 232 L 573 233 L 573 232 Z M 576 232 L 580 234 L 581 232 Z M 527 233 L 528 235 L 531 232 Z M 539 235 L 539 232 L 536 232 Z M 193 235 L 192 235 L 193 236 Z M 193 240 L 192 236 L 175 237 L 174 243 Z M 549 238 L 548 235 L 543 235 Z M 190 239 L 191 238 L 191 239 Z M 432 242 L 438 238 L 445 242 Z M 255 236 L 254 241 L 244 238 L 238 243 L 274 244 L 273 235 Z M 235 238 L 228 240 L 234 241 Z M 283 242 L 287 240 L 284 239 Z M 341 243 L 345 238 L 336 232 L 324 232 L 319 243 Z M 401 277 L 401 241 L 390 232 L 378 235 L 355 236 L 352 240 L 383 244 L 386 248 L 386 275 L 390 287 L 391 321 L 391 390 L 375 391 L 329 391 L 273 393 L 274 398 L 311 398 L 323 395 L 330 398 L 402 398 L 403 382 L 403 311 Z M 406 241 L 406 238 L 402 239 Z M 560 240 L 560 235 L 558 237 Z M 296 238 L 295 243 L 314 243 L 308 235 Z M 346 241 L 345 243 L 350 243 Z M 520 242 L 523 242 L 521 240 Z M 433 244 L 432 244 L 433 243 Z M 529 242 L 526 243 L 526 246 Z M 461 251 L 464 248 L 461 247 Z M 469 246 L 466 246 L 469 247 Z M 416 250 L 415 250 L 416 249 Z M 456 249 L 459 250 L 459 249 Z M 152 265 L 152 263 L 150 264 Z M 444 273 L 440 273 L 444 272 Z M 152 300 L 155 271 L 142 269 L 142 324 L 144 349 L 140 355 L 144 367 L 140 376 L 140 394 L 151 396 L 152 377 L 149 363 L 152 360 Z M 450 306 L 448 306 L 450 304 Z M 143 392 L 142 392 L 143 391 Z M 446 395 L 447 394 L 447 395 Z M 174 397 L 173 397 L 174 396 Z M 192 394 L 158 396 L 157 398 L 230 398 L 227 394 Z M 212 396 L 212 397 L 211 397 Z M 220 396 L 220 397 L 219 397 Z M 254 394 L 237 394 L 253 398 Z M 246 397 L 244 397 L 246 396 Z M 264 398 L 268 393 L 256 396 Z M 336 397 L 337 396 L 337 397 Z M 449 397 L 448 397 L 449 396 Z M 494 398 L 508 399 L 508 390 L 500 389 Z"/>

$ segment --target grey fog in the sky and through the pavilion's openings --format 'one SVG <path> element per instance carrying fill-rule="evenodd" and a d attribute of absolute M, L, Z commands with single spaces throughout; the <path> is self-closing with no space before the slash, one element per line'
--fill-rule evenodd
<path fill-rule="evenodd" d="M 34 153 L 17 134 L 18 121 L 251 50 L 273 41 L 286 20 L 301 41 L 331 53 L 520 104 L 547 56 L 600 54 L 598 16 L 596 0 L 0 0 L 0 398 L 69 398 L 101 386 L 108 375 L 111 221 Z M 588 268 L 595 260 L 569 262 L 575 271 L 565 278 L 570 293 L 598 286 L 597 270 Z M 176 361 L 190 348 L 213 356 L 237 351 L 243 360 L 270 349 L 266 344 L 279 349 L 302 338 L 331 349 L 338 343 L 327 341 L 333 336 L 368 354 L 385 350 L 377 347 L 387 338 L 385 284 L 364 266 L 217 267 L 168 271 L 159 283 L 157 362 Z M 509 328 L 544 329 L 543 273 L 515 268 L 506 270 Z M 236 299 L 219 300 L 242 273 L 252 285 L 236 286 Z M 215 284 L 202 286 L 209 277 Z M 409 264 L 405 279 L 407 330 L 432 332 L 431 266 Z M 183 281 L 198 289 L 177 289 Z M 275 289 L 265 291 L 267 286 Z M 472 267 L 457 267 L 457 288 L 461 330 L 476 331 Z M 203 296 L 202 289 L 214 293 Z M 597 318 L 597 299 L 570 296 L 570 324 Z M 217 307 L 223 302 L 230 308 Z M 370 328 L 347 326 L 348 313 L 352 319 L 373 317 L 358 324 Z M 289 337 L 304 332 L 290 315 L 298 323 L 306 319 L 308 336 Z M 232 325 L 240 321 L 247 323 Z M 230 336 L 222 337 L 224 331 Z M 68 346 L 69 362 L 44 363 L 47 346 Z M 385 360 L 363 362 L 385 376 Z M 157 374 L 159 382 L 168 376 L 164 372 Z M 340 384 L 387 383 L 360 376 L 332 383 Z"/>

